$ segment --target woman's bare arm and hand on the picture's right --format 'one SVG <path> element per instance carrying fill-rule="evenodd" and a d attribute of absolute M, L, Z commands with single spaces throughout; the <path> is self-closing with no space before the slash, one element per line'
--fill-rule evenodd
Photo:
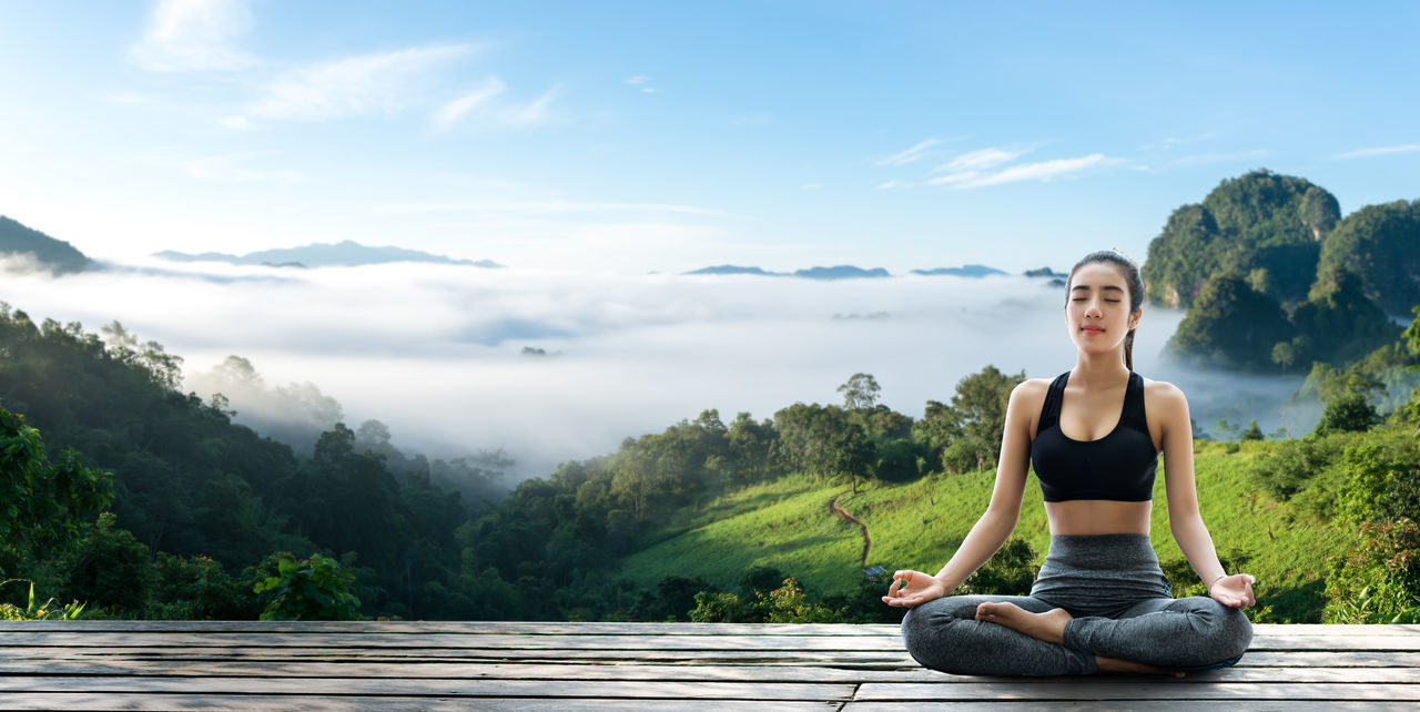
<path fill-rule="evenodd" d="M 1208 591 L 1220 603 L 1247 606 L 1255 603 L 1252 599 L 1248 574 L 1227 577 L 1223 563 L 1218 562 L 1218 552 L 1213 545 L 1213 536 L 1203 523 L 1198 512 L 1198 492 L 1193 478 L 1193 424 L 1189 420 L 1189 401 L 1183 391 L 1172 384 L 1162 389 L 1160 404 L 1163 406 L 1163 467 L 1164 491 L 1169 496 L 1169 529 L 1173 540 L 1189 559 L 1198 579 L 1208 587 Z M 1247 582 L 1231 582 L 1238 576 Z M 1224 583 L 1223 589 L 1214 590 L 1214 584 Z M 1235 590 L 1233 590 L 1235 587 Z"/>

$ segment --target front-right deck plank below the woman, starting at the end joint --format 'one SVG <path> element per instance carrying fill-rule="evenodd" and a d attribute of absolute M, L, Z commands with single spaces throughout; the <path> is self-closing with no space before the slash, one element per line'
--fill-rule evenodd
<path fill-rule="evenodd" d="M 987 682 L 981 685 L 947 685 L 923 682 L 865 682 L 853 696 L 855 702 L 902 702 L 907 699 L 932 701 L 978 701 L 978 699 L 1088 699 L 1088 701 L 1174 701 L 1174 699 L 1220 699 L 1220 701 L 1420 701 L 1420 685 L 1356 685 L 1356 684 L 1248 684 L 1213 682 L 1196 685 L 1179 681 L 1145 682 L 1130 685 L 1098 685 L 1093 678 L 1072 682 Z"/>

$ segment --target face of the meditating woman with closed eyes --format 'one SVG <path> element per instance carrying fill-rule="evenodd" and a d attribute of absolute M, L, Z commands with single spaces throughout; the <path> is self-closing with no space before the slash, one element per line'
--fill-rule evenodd
<path fill-rule="evenodd" d="M 1089 262 L 1075 271 L 1065 302 L 1065 326 L 1075 346 L 1089 353 L 1123 349 L 1129 329 L 1139 325 L 1139 313 L 1129 313 L 1129 287 L 1119 268 L 1108 262 Z"/>

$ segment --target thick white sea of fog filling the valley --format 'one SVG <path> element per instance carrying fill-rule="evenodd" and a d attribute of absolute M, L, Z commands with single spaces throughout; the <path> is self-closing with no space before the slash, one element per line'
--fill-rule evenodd
<path fill-rule="evenodd" d="M 0 264 L 0 268 L 6 265 Z M 11 265 L 14 267 L 14 265 Z M 270 387 L 339 401 L 352 428 L 389 425 L 430 457 L 506 450 L 517 478 L 616 450 L 717 408 L 728 423 L 795 401 L 839 403 L 870 373 L 882 401 L 920 417 L 984 366 L 1054 377 L 1074 366 L 1061 287 L 1027 277 L 577 274 L 422 264 L 266 268 L 142 261 L 54 278 L 0 272 L 0 301 L 38 322 L 114 321 L 185 359 L 187 387 L 227 356 Z M 1218 418 L 1264 431 L 1301 379 L 1193 372 L 1160 359 L 1183 313 L 1145 308 L 1135 370 Z M 527 356 L 524 347 L 547 356 Z M 210 389 L 209 389 L 210 390 Z M 237 421 L 263 403 L 227 393 Z M 273 416 L 273 414 L 267 414 Z M 274 414 L 280 416 L 280 414 Z M 1292 427 L 1315 414 L 1287 414 Z"/>

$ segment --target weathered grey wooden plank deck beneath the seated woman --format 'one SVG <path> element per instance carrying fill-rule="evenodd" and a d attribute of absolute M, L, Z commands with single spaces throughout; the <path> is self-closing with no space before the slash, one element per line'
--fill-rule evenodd
<path fill-rule="evenodd" d="M 1257 625 L 1186 678 L 924 669 L 896 625 L 0 621 L 0 708 L 1386 709 L 1420 625 Z"/>

